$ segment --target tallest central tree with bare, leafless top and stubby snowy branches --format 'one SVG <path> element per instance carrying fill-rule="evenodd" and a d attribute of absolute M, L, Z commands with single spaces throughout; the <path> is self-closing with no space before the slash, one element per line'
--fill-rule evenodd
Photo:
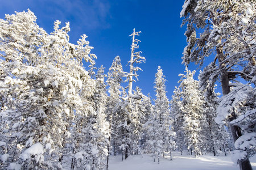
<path fill-rule="evenodd" d="M 125 152 L 125 159 L 129 156 L 129 152 L 133 152 L 132 150 L 134 143 L 138 145 L 138 142 L 134 142 L 134 130 L 136 129 L 135 126 L 137 126 L 135 122 L 139 122 L 139 117 L 137 116 L 138 112 L 137 107 L 135 106 L 136 104 L 133 101 L 142 99 L 143 95 L 138 90 L 134 91 L 135 93 L 133 94 L 133 82 L 135 81 L 133 79 L 133 76 L 135 76 L 135 78 L 137 78 L 138 80 L 138 74 L 136 73 L 136 71 L 142 69 L 140 67 L 134 67 L 134 63 L 145 62 L 145 58 L 141 56 L 141 52 L 134 52 L 135 49 L 139 48 L 139 40 L 135 39 L 135 36 L 139 36 L 139 33 L 141 33 L 141 31 L 135 32 L 134 29 L 133 33 L 130 35 L 133 37 L 133 42 L 131 44 L 131 58 L 128 62 L 128 64 L 130 63 L 130 71 L 125 75 L 125 82 L 129 82 L 129 85 L 126 87 L 128 88 L 128 95 L 126 95 L 126 92 L 123 91 L 123 103 L 121 107 L 122 117 L 121 122 L 118 126 L 122 131 L 123 139 L 120 148 L 122 148 L 122 152 Z M 129 99 L 129 102 L 127 102 L 127 99 Z M 135 139 L 135 141 L 138 140 Z"/>

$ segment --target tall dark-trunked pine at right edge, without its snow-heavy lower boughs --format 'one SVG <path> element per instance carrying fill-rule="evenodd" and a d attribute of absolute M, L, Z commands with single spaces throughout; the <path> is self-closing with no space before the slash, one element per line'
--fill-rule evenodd
<path fill-rule="evenodd" d="M 204 71 L 211 86 L 220 79 L 222 94 L 230 93 L 229 81 L 238 77 L 255 82 L 255 3 L 254 1 L 201 1 L 186 0 L 181 17 L 187 24 L 188 45 L 184 49 L 183 63 L 190 62 L 203 65 L 206 57 L 216 57 Z M 202 32 L 203 30 L 203 32 Z M 200 36 L 199 36 L 199 33 Z M 206 85 L 206 84 L 205 84 Z M 226 122 L 229 124 L 237 118 L 230 112 Z M 235 124 L 229 124 L 233 140 L 240 136 L 241 130 Z M 240 163 L 241 169 L 252 169 L 246 157 Z"/>

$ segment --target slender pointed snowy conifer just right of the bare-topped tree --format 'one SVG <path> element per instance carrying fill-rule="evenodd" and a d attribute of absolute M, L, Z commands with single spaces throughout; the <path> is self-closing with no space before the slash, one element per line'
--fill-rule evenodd
<path fill-rule="evenodd" d="M 150 128 L 150 139 L 147 141 L 148 145 L 151 147 L 151 152 L 153 155 L 163 154 L 164 151 L 172 151 L 176 148 L 176 143 L 174 142 L 175 133 L 170 128 L 172 120 L 170 117 L 170 105 L 166 96 L 166 79 L 163 75 L 163 70 L 158 66 L 158 72 L 155 75 L 155 92 L 156 100 L 154 106 L 154 116 L 151 117 L 152 120 L 149 122 Z"/>

